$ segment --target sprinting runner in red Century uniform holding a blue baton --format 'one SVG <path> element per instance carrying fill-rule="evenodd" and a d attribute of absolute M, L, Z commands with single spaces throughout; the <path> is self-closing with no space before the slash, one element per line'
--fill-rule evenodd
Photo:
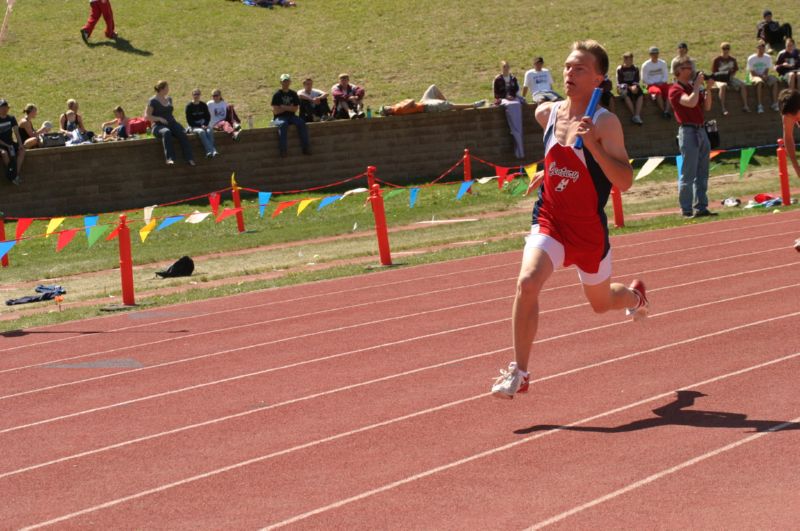
<path fill-rule="evenodd" d="M 616 115 L 598 109 L 584 112 L 608 72 L 608 54 L 596 41 L 578 41 L 564 64 L 567 99 L 536 107 L 544 128 L 544 170 L 538 186 L 533 226 L 526 237 L 512 315 L 515 361 L 492 386 L 499 398 L 528 390 L 528 358 L 539 324 L 539 293 L 562 266 L 575 265 L 583 292 L 597 313 L 627 309 L 634 319 L 647 315 L 644 283 L 629 288 L 611 283 L 611 248 L 604 208 L 611 186 L 624 191 L 633 183 L 633 169 Z M 578 137 L 584 149 L 572 147 Z"/>

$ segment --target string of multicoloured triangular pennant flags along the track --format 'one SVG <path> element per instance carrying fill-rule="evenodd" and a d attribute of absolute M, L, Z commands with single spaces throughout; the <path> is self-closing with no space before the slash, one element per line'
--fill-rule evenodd
<path fill-rule="evenodd" d="M 742 177 L 744 175 L 748 165 L 750 164 L 750 161 L 752 160 L 753 155 L 755 154 L 756 150 L 757 149 L 761 149 L 761 148 L 771 148 L 771 147 L 776 147 L 776 145 L 773 144 L 773 145 L 766 145 L 766 146 L 757 146 L 757 147 L 730 149 L 730 150 L 721 150 L 721 149 L 720 150 L 714 150 L 714 151 L 711 151 L 711 153 L 709 154 L 709 159 L 713 160 L 715 157 L 717 157 L 718 155 L 720 155 L 722 153 L 740 151 L 741 154 L 740 154 L 740 164 L 739 164 L 739 175 L 740 175 L 740 177 Z M 472 191 L 472 189 L 473 189 L 473 187 L 474 187 L 474 185 L 476 183 L 477 184 L 481 184 L 481 185 L 485 185 L 485 184 L 487 184 L 487 183 L 489 183 L 489 182 L 491 182 L 493 180 L 497 180 L 498 188 L 502 190 L 503 187 L 507 183 L 513 182 L 514 179 L 516 179 L 518 177 L 523 177 L 523 178 L 521 179 L 521 181 L 513 189 L 510 190 L 510 193 L 511 193 L 512 196 L 521 195 L 521 194 L 523 194 L 523 193 L 525 193 L 527 191 L 530 182 L 532 182 L 534 180 L 537 172 L 539 171 L 540 164 L 542 163 L 542 161 L 540 160 L 540 161 L 537 161 L 537 162 L 534 162 L 534 163 L 531 163 L 531 164 L 527 164 L 527 165 L 523 165 L 523 166 L 508 167 L 508 166 L 500 166 L 500 165 L 485 161 L 485 160 L 483 160 L 483 159 L 481 159 L 479 157 L 476 157 L 474 155 L 470 155 L 470 158 L 475 159 L 476 161 L 478 161 L 478 162 L 480 162 L 482 164 L 485 164 L 486 166 L 489 166 L 489 167 L 493 168 L 495 175 L 488 176 L 488 177 L 480 177 L 478 179 L 469 179 L 469 180 L 460 181 L 460 182 L 457 182 L 457 183 L 444 183 L 444 184 L 458 184 L 459 185 L 458 186 L 458 191 L 455 194 L 455 200 L 456 201 L 461 201 L 466 194 L 471 193 L 471 191 Z M 630 159 L 631 163 L 633 163 L 634 160 L 645 160 L 645 163 L 639 169 L 635 180 L 638 181 L 638 180 L 644 179 L 645 177 L 647 177 L 648 175 L 653 173 L 668 158 L 674 158 L 675 159 L 675 164 L 677 166 L 678 175 L 680 175 L 681 167 L 682 167 L 682 164 L 683 164 L 683 157 L 681 155 L 646 157 L 646 158 L 640 158 L 640 159 Z M 419 200 L 420 191 L 423 188 L 428 188 L 428 187 L 430 187 L 432 185 L 437 184 L 438 181 L 440 181 L 442 178 L 444 178 L 449 173 L 451 173 L 453 170 L 455 170 L 455 168 L 457 168 L 458 166 L 462 165 L 463 162 L 464 162 L 464 160 L 460 159 L 452 167 L 450 167 L 447 171 L 445 171 L 442 175 L 440 175 L 439 177 L 437 177 L 436 179 L 434 179 L 433 181 L 431 181 L 430 183 L 427 183 L 425 185 L 420 185 L 420 186 L 400 186 L 400 185 L 396 185 L 396 184 L 393 184 L 393 183 L 390 183 L 390 182 L 387 182 L 387 181 L 383 181 L 381 179 L 376 179 L 376 180 L 378 182 L 381 182 L 381 183 L 391 187 L 391 189 L 384 194 L 384 199 L 388 200 L 389 198 L 394 197 L 394 196 L 396 196 L 398 194 L 402 194 L 402 193 L 406 193 L 407 192 L 408 193 L 408 205 L 409 205 L 409 208 L 414 208 L 416 206 L 418 200 Z M 324 188 L 340 186 L 341 184 L 346 183 L 348 181 L 352 181 L 352 180 L 364 177 L 364 175 L 365 174 L 359 174 L 359 175 L 356 175 L 356 176 L 351 177 L 349 179 L 345 179 L 345 180 L 339 181 L 337 183 L 333 183 L 333 184 L 330 184 L 330 185 L 319 186 L 319 187 L 316 187 L 316 188 L 311 188 L 311 189 L 306 189 L 306 190 L 292 190 L 292 191 L 289 191 L 289 192 L 275 192 L 275 194 L 279 194 L 279 193 L 283 193 L 283 194 L 287 194 L 287 193 L 304 193 L 304 192 L 310 192 L 310 191 L 318 191 L 318 190 L 322 190 Z M 525 180 L 525 177 L 527 177 L 527 181 Z M 167 206 L 167 205 L 152 205 L 152 206 L 145 207 L 142 210 L 142 214 L 143 214 L 143 218 L 142 219 L 143 219 L 144 225 L 138 231 L 140 240 L 142 241 L 142 243 L 144 243 L 153 231 L 155 231 L 155 232 L 162 231 L 162 230 L 164 230 L 164 229 L 166 229 L 166 228 L 168 228 L 168 227 L 170 227 L 170 226 L 172 226 L 172 225 L 174 225 L 176 223 L 179 223 L 179 222 L 184 222 L 184 223 L 189 223 L 189 224 L 199 224 L 199 223 L 202 223 L 203 221 L 205 221 L 206 219 L 208 219 L 210 216 L 213 215 L 215 223 L 220 223 L 220 222 L 222 222 L 222 221 L 224 221 L 224 220 L 226 220 L 226 219 L 228 219 L 228 218 L 230 218 L 232 216 L 236 216 L 237 214 L 241 214 L 244 211 L 245 208 L 249 208 L 249 207 L 225 208 L 225 209 L 222 210 L 222 212 L 219 211 L 222 194 L 225 193 L 225 192 L 231 191 L 231 190 L 246 190 L 246 191 L 249 191 L 249 192 L 256 193 L 257 197 L 258 197 L 258 201 L 257 201 L 256 207 L 258 208 L 258 216 L 259 216 L 259 218 L 264 218 L 264 216 L 266 214 L 267 206 L 270 204 L 270 202 L 274 202 L 273 201 L 273 195 L 274 195 L 273 192 L 265 192 L 265 191 L 261 191 L 261 190 L 255 190 L 255 189 L 251 189 L 251 188 L 243 188 L 243 187 L 239 186 L 238 183 L 236 182 L 236 175 L 234 173 L 234 174 L 231 175 L 231 186 L 230 186 L 230 188 L 226 188 L 224 190 L 211 192 L 211 193 L 207 194 L 206 196 L 199 196 L 199 197 L 208 197 L 209 208 L 211 210 L 210 212 L 200 212 L 198 210 L 195 210 L 195 211 L 193 211 L 193 212 L 191 212 L 189 214 L 170 215 L 170 216 L 166 216 L 166 217 L 163 217 L 163 218 L 159 218 L 159 217 L 153 216 L 154 212 L 156 211 L 157 208 L 163 207 L 163 206 Z M 316 210 L 320 211 L 323 208 L 325 208 L 327 206 L 330 206 L 331 204 L 333 204 L 333 203 L 335 203 L 337 201 L 341 201 L 341 200 L 347 198 L 348 196 L 356 195 L 356 194 L 363 194 L 363 193 L 367 193 L 368 191 L 369 190 L 367 188 L 358 187 L 358 188 L 353 188 L 351 190 L 348 190 L 348 191 L 346 191 L 344 193 L 341 193 L 341 194 L 323 195 L 323 196 L 309 197 L 309 198 L 304 198 L 304 199 L 291 199 L 291 200 L 287 200 L 287 201 L 280 201 L 277 204 L 275 204 L 275 208 L 272 211 L 271 218 L 274 219 L 274 218 L 278 217 L 281 213 L 283 213 L 287 209 L 289 209 L 291 207 L 294 207 L 294 206 L 297 207 L 296 215 L 300 216 L 300 214 L 302 214 L 309 206 L 311 206 L 314 203 L 316 203 Z M 191 198 L 191 199 L 188 199 L 188 200 L 183 200 L 183 201 L 176 201 L 176 202 L 173 202 L 173 203 L 169 203 L 169 205 L 174 205 L 174 204 L 178 204 L 178 203 L 181 203 L 181 202 L 184 202 L 184 201 L 190 201 L 190 200 L 195 200 L 195 199 L 197 199 L 197 197 L 194 197 L 194 198 Z M 114 213 L 109 213 L 109 214 L 114 214 Z M 78 216 L 73 216 L 73 217 L 78 217 Z M 31 224 L 33 223 L 33 221 L 35 219 L 36 218 L 17 218 L 17 220 L 16 220 L 17 224 L 16 224 L 16 231 L 15 231 L 14 239 L 0 242 L 0 258 L 4 257 L 6 254 L 8 254 L 8 252 L 19 241 L 21 241 L 23 239 L 37 237 L 37 236 L 28 236 L 28 237 L 25 236 L 26 231 L 30 228 Z M 47 224 L 47 229 L 45 230 L 45 234 L 44 234 L 45 238 L 50 238 L 50 236 L 52 236 L 52 235 L 57 235 L 56 252 L 60 252 L 65 247 L 67 247 L 74 240 L 75 236 L 78 233 L 81 232 L 80 228 L 70 228 L 70 229 L 59 230 L 59 228 L 61 227 L 61 225 L 64 223 L 64 221 L 66 219 L 67 219 L 67 217 L 50 218 L 49 221 L 48 221 L 48 224 Z M 100 238 L 103 238 L 104 236 L 105 236 L 105 240 L 106 241 L 111 241 L 111 240 L 114 240 L 119 234 L 120 225 L 118 223 L 115 222 L 113 224 L 100 224 L 99 223 L 99 219 L 100 219 L 100 216 L 97 216 L 97 215 L 83 216 L 83 231 L 86 233 L 86 239 L 87 239 L 88 248 L 91 248 L 93 245 L 95 245 L 100 240 Z"/>

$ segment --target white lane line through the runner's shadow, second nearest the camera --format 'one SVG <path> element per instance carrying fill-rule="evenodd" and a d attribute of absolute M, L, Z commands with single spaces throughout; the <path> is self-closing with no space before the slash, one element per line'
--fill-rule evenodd
<path fill-rule="evenodd" d="M 625 406 L 614 408 L 614 409 L 605 411 L 603 413 L 599 413 L 597 415 L 592 415 L 591 417 L 586 417 L 586 418 L 583 418 L 583 419 L 580 419 L 580 420 L 576 420 L 576 421 L 574 421 L 574 422 L 572 422 L 570 424 L 567 424 L 565 426 L 565 428 L 571 428 L 571 427 L 574 427 L 574 426 L 580 426 L 581 424 L 586 424 L 587 422 L 592 422 L 594 420 L 601 419 L 603 417 L 608 417 L 610 415 L 614 415 L 616 413 L 620 413 L 620 412 L 623 412 L 623 411 L 626 411 L 628 409 L 632 409 L 632 408 L 635 408 L 635 407 L 638 407 L 638 406 L 641 406 L 641 405 L 644 405 L 644 404 L 648 404 L 648 403 L 656 401 L 656 400 L 661 400 L 663 398 L 667 398 L 669 396 L 674 395 L 677 391 L 679 391 L 681 389 L 696 388 L 696 387 L 700 387 L 700 386 L 704 386 L 704 385 L 709 385 L 709 384 L 712 384 L 712 383 L 719 382 L 721 380 L 732 378 L 734 376 L 740 376 L 740 375 L 748 373 L 748 372 L 752 372 L 752 371 L 755 371 L 755 370 L 758 370 L 758 369 L 763 369 L 764 367 L 768 367 L 770 365 L 775 365 L 777 363 L 782 363 L 784 361 L 789 361 L 789 360 L 795 359 L 797 357 L 800 357 L 800 352 L 795 352 L 794 354 L 789 354 L 787 356 L 783 356 L 781 358 L 777 358 L 777 359 L 770 360 L 770 361 L 767 361 L 767 362 L 764 362 L 764 363 L 760 363 L 758 365 L 752 365 L 752 366 L 746 367 L 744 369 L 739 369 L 737 371 L 733 371 L 733 372 L 729 372 L 729 373 L 726 373 L 726 374 L 722 374 L 720 376 L 715 376 L 714 378 L 709 378 L 708 380 L 703 380 L 702 382 L 696 382 L 696 383 L 693 383 L 693 384 L 684 385 L 684 386 L 681 386 L 681 387 L 679 387 L 677 389 L 670 390 L 670 391 L 668 391 L 666 393 L 660 393 L 658 395 L 654 395 L 654 396 L 651 396 L 649 398 L 645 398 L 643 400 L 638 400 L 636 402 L 627 404 Z M 265 530 L 277 529 L 279 527 L 284 527 L 284 526 L 287 526 L 289 524 L 294 524 L 294 523 L 297 523 L 297 522 L 299 522 L 301 520 L 305 520 L 306 518 L 310 518 L 311 516 L 315 516 L 315 515 L 318 515 L 318 514 L 321 514 L 321 513 L 324 513 L 324 512 L 328 512 L 328 511 L 331 511 L 331 510 L 334 510 L 334 509 L 338 509 L 338 508 L 343 507 L 345 505 L 349 505 L 349 504 L 351 504 L 353 502 L 357 502 L 357 501 L 363 500 L 365 498 L 369 498 L 370 496 L 374 496 L 376 494 L 380 494 L 380 493 L 383 493 L 383 492 L 386 492 L 386 491 L 389 491 L 389 490 L 392 490 L 392 489 L 396 489 L 397 487 L 400 487 L 402 485 L 407 485 L 409 483 L 413 483 L 415 481 L 418 481 L 420 479 L 432 476 L 434 474 L 438 474 L 440 472 L 444 472 L 446 470 L 450 470 L 452 468 L 455 468 L 455 467 L 458 467 L 458 466 L 461 466 L 461 465 L 464 465 L 464 464 L 467 464 L 467 463 L 471 463 L 473 461 L 477 461 L 478 459 L 483 459 L 484 457 L 490 457 L 490 456 L 498 454 L 500 452 L 504 452 L 506 450 L 510 450 L 512 448 L 516 448 L 517 446 L 520 446 L 522 444 L 526 444 L 526 443 L 529 443 L 529 442 L 534 441 L 536 439 L 541 439 L 542 437 L 547 437 L 549 435 L 552 435 L 552 434 L 555 434 L 555 433 L 559 433 L 559 432 L 562 432 L 562 431 L 564 431 L 564 430 L 563 429 L 555 429 L 555 430 L 551 430 L 551 431 L 539 432 L 539 433 L 537 433 L 535 435 L 531 435 L 529 437 L 525 437 L 524 439 L 519 439 L 519 440 L 516 440 L 516 441 L 511 442 L 509 444 L 505 444 L 503 446 L 498 446 L 498 447 L 492 448 L 490 450 L 486 450 L 486 451 L 483 451 L 483 452 L 480 452 L 480 453 L 477 453 L 477 454 L 473 454 L 473 455 L 471 455 L 469 457 L 465 457 L 463 459 L 459 459 L 458 461 L 453 461 L 451 463 L 447 463 L 446 465 L 441 465 L 441 466 L 438 466 L 436 468 L 432 468 L 430 470 L 426 470 L 424 472 L 420 472 L 419 474 L 414 474 L 413 476 L 409 476 L 409 477 L 401 479 L 399 481 L 395 481 L 395 482 L 383 485 L 381 487 L 377 487 L 377 488 L 362 492 L 362 493 L 357 494 L 355 496 L 351 496 L 349 498 L 345 498 L 345 499 L 339 500 L 339 501 L 331 503 L 329 505 L 325 505 L 324 507 L 319 507 L 319 508 L 314 509 L 312 511 L 308 511 L 308 512 L 305 512 L 305 513 L 302 513 L 302 514 L 298 514 L 297 516 L 294 516 L 292 518 L 288 518 L 288 519 L 283 520 L 281 522 L 276 522 L 274 524 L 271 524 L 271 525 L 265 527 L 264 529 Z M 169 487 L 167 487 L 167 488 L 169 488 Z M 151 489 L 151 490 L 155 491 L 156 489 Z M 164 490 L 166 490 L 166 489 L 164 489 Z M 157 492 L 160 492 L 160 491 L 157 491 Z M 133 495 L 133 496 L 137 496 L 137 495 Z M 126 498 L 131 498 L 132 499 L 133 496 L 128 496 Z M 127 499 L 123 499 L 123 498 L 120 498 L 120 499 L 124 500 L 124 501 L 128 501 Z M 117 501 L 117 500 L 114 500 L 114 501 Z M 114 503 L 114 502 L 108 502 L 108 503 Z M 122 503 L 122 502 L 119 502 L 119 503 Z M 108 504 L 104 504 L 104 505 L 108 506 Z M 96 507 L 101 508 L 101 509 L 105 508 L 105 507 L 100 507 L 100 506 L 96 506 Z M 79 516 L 80 514 L 86 514 L 88 512 L 93 512 L 95 510 L 97 510 L 97 509 L 95 509 L 95 508 L 84 509 L 84 511 L 79 511 L 78 513 L 73 513 L 72 515 L 65 515 L 65 516 L 60 517 L 59 519 L 51 520 L 50 522 L 45 522 L 43 525 L 50 525 L 51 523 L 56 523 L 56 522 L 60 522 L 60 521 L 63 521 L 63 520 L 68 520 L 70 518 L 74 518 L 73 515 Z"/>

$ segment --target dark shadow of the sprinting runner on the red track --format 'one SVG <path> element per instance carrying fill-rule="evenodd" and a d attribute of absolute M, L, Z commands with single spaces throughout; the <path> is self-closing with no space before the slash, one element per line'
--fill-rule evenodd
<path fill-rule="evenodd" d="M 772 428 L 786 424 L 784 420 L 748 420 L 743 413 L 728 413 L 725 411 L 686 410 L 684 408 L 694 405 L 695 399 L 707 396 L 699 391 L 678 391 L 675 401 L 654 409 L 657 415 L 654 418 L 635 420 L 628 424 L 613 427 L 600 426 L 558 426 L 552 424 L 538 424 L 529 428 L 515 430 L 514 433 L 527 435 L 535 431 L 588 431 L 596 433 L 626 433 L 636 430 L 658 428 L 661 426 L 693 426 L 696 428 L 733 428 L 748 429 L 755 432 L 769 431 Z M 799 423 L 792 423 L 782 428 L 785 430 L 800 430 Z"/>

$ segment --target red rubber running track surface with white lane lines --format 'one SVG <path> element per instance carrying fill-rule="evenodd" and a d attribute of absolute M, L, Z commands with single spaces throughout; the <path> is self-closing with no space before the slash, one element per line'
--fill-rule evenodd
<path fill-rule="evenodd" d="M 488 391 L 519 252 L 5 334 L 0 521 L 798 527 L 798 235 L 783 213 L 614 238 L 639 323 L 557 271 L 512 401 Z"/>

